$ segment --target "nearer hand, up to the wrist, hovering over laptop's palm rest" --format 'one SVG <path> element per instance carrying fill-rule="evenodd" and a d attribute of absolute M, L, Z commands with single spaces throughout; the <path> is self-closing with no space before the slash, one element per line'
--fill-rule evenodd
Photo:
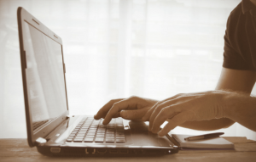
<path fill-rule="evenodd" d="M 155 104 L 142 120 L 149 120 L 148 130 L 153 133 L 157 133 L 167 121 L 166 126 L 158 132 L 162 137 L 185 121 L 224 117 L 224 98 L 230 93 L 232 92 L 212 91 L 177 94 Z"/>

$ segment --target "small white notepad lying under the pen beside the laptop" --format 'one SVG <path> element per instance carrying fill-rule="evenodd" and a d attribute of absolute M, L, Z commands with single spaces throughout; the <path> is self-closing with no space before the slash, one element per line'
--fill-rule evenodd
<path fill-rule="evenodd" d="M 170 134 L 180 148 L 202 148 L 202 149 L 234 149 L 234 144 L 223 137 L 214 137 L 195 141 L 185 141 L 184 138 L 193 135 Z"/>

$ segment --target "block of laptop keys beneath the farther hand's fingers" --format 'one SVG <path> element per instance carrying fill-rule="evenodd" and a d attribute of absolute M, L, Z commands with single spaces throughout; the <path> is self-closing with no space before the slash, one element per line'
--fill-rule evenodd
<path fill-rule="evenodd" d="M 121 118 L 112 119 L 108 125 L 103 120 L 83 118 L 67 137 L 67 142 L 125 142 L 124 124 Z"/>

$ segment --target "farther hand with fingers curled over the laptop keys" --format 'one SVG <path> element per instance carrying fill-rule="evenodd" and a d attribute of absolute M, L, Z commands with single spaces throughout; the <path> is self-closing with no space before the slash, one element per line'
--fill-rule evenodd
<path fill-rule="evenodd" d="M 103 118 L 104 125 L 107 125 L 112 118 L 117 117 L 122 117 L 125 120 L 141 120 L 157 102 L 157 100 L 139 97 L 113 99 L 97 112 L 94 119 Z"/>

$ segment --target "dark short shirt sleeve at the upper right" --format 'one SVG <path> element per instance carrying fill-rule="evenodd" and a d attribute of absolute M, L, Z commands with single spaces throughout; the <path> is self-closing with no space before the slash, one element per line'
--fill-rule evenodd
<path fill-rule="evenodd" d="M 230 13 L 223 67 L 256 71 L 256 7 L 249 0 L 242 0 Z"/>

